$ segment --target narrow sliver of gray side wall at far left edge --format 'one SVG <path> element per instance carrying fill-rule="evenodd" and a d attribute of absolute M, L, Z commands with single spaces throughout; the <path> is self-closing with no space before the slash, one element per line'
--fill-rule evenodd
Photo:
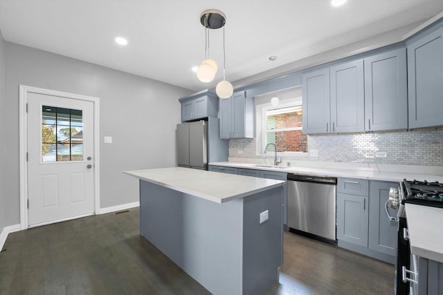
<path fill-rule="evenodd" d="M 4 151 L 6 145 L 6 121 L 5 121 L 5 41 L 0 30 L 0 233 L 8 225 L 6 220 L 6 172 L 5 159 L 7 154 Z"/>

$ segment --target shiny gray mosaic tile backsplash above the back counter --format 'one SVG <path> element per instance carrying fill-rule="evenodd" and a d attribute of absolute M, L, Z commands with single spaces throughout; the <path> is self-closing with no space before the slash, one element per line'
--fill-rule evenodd
<path fill-rule="evenodd" d="M 443 129 L 308 135 L 307 145 L 305 155 L 284 159 L 443 166 Z M 256 155 L 255 139 L 230 140 L 229 157 L 264 158 Z"/>

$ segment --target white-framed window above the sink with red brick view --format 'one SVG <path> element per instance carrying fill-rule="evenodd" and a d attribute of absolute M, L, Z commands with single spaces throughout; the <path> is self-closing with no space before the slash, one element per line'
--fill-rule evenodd
<path fill-rule="evenodd" d="M 269 101 L 269 100 L 268 100 Z M 285 99 L 278 106 L 257 105 L 257 154 L 266 144 L 277 146 L 280 155 L 307 155 L 307 135 L 302 133 L 301 97 Z M 272 145 L 266 152 L 275 151 Z"/>

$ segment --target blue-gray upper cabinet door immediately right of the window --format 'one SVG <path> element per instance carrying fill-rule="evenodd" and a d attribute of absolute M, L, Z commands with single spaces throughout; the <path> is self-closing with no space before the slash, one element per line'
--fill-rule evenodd
<path fill-rule="evenodd" d="M 303 133 L 330 132 L 329 68 L 302 75 Z"/>

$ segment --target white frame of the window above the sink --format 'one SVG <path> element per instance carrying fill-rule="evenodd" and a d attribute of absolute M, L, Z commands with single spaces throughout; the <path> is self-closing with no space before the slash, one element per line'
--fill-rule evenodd
<path fill-rule="evenodd" d="M 293 106 L 302 106 L 302 97 L 294 97 L 292 99 L 280 100 L 278 106 L 273 106 L 271 103 L 257 104 L 256 106 L 256 144 L 255 144 L 255 154 L 256 155 L 269 155 L 264 152 L 264 146 L 266 146 L 266 134 L 268 133 L 266 129 L 266 112 L 273 110 L 275 108 L 289 108 Z M 289 130 L 302 130 L 302 127 L 293 127 L 289 129 L 278 129 L 278 131 L 289 131 Z M 308 143 L 309 144 L 309 143 Z M 277 152 L 280 157 L 291 157 L 291 156 L 309 156 L 309 146 L 307 146 L 307 151 L 285 151 Z"/>

